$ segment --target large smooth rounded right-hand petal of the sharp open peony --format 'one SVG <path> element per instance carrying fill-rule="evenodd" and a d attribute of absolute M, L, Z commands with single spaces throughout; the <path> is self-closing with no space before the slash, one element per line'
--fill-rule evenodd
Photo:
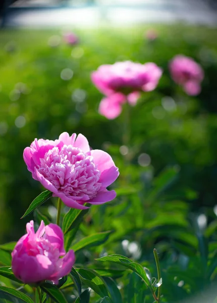
<path fill-rule="evenodd" d="M 99 182 L 102 186 L 107 187 L 111 185 L 119 176 L 118 168 L 115 166 L 112 157 L 100 149 L 90 151 L 97 169 L 101 172 Z"/>

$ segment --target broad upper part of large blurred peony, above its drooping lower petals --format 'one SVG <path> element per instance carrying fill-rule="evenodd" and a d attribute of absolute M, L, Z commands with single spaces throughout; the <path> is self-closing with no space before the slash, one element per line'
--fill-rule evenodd
<path fill-rule="evenodd" d="M 101 65 L 92 72 L 91 79 L 105 95 L 115 92 L 129 94 L 134 91 L 153 90 L 162 75 L 162 70 L 154 63 L 116 62 Z"/>

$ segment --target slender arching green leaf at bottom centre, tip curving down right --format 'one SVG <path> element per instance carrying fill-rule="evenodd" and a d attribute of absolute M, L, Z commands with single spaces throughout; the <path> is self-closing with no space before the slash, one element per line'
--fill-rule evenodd
<path fill-rule="evenodd" d="M 124 257 L 122 255 L 111 255 L 111 256 L 105 256 L 105 257 L 101 257 L 99 259 L 96 259 L 97 261 L 108 261 L 108 262 L 114 262 L 116 264 L 125 266 L 129 269 L 131 269 L 132 271 L 134 271 L 137 275 L 139 275 L 143 281 L 145 282 L 145 284 L 152 289 L 149 277 L 147 276 L 145 270 L 143 269 L 143 267 L 136 263 L 133 262 L 132 260 L 128 259 L 127 257 Z"/>

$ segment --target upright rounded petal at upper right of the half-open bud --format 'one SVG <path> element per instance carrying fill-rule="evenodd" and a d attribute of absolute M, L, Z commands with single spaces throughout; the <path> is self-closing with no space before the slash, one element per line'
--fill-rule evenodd
<path fill-rule="evenodd" d="M 63 231 L 57 224 L 48 224 L 45 226 L 45 237 L 52 244 L 53 247 L 60 251 L 60 256 L 64 256 L 66 251 L 64 249 Z"/>

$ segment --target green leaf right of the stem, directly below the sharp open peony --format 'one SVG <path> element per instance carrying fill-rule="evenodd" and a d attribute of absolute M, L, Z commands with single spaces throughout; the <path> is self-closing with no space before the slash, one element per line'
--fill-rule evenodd
<path fill-rule="evenodd" d="M 86 210 L 70 209 L 63 218 L 63 233 L 66 234 L 70 229 L 81 223 L 84 215 L 88 212 Z"/>

